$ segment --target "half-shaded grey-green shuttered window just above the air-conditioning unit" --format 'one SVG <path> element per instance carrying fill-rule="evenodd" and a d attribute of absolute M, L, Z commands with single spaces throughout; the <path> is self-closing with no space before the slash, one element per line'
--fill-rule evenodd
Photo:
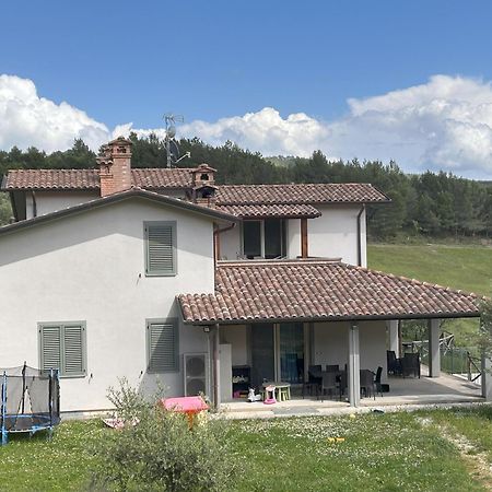
<path fill-rule="evenodd" d="M 179 371 L 178 323 L 176 318 L 147 320 L 147 366 L 149 373 Z"/>

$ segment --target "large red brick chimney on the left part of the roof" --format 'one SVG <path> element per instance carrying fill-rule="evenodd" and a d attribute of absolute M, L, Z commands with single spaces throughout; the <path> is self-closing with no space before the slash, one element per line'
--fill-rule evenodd
<path fill-rule="evenodd" d="M 104 145 L 97 157 L 99 166 L 101 196 L 131 188 L 131 142 L 118 137 Z"/>

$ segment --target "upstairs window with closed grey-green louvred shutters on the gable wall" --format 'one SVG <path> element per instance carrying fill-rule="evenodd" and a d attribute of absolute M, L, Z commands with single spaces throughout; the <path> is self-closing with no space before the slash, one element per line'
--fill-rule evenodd
<path fill-rule="evenodd" d="M 176 274 L 176 222 L 145 222 L 145 274 Z"/>

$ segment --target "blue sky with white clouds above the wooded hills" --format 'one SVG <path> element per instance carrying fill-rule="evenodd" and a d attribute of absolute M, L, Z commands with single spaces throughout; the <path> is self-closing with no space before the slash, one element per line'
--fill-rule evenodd
<path fill-rule="evenodd" d="M 181 134 L 201 131 L 214 144 L 232 138 L 266 154 L 320 148 L 333 157 L 394 157 L 408 171 L 492 173 L 490 2 L 17 0 L 1 17 L 0 74 L 32 81 L 55 113 L 66 102 L 103 133 L 129 122 L 159 129 L 174 112 L 185 116 Z M 3 80 L 3 103 L 17 79 Z M 406 105 L 388 107 L 395 91 Z M 31 125 L 21 136 L 5 122 L 13 109 L 9 99 L 1 113 L 1 94 L 0 148 L 23 147 Z M 436 116 L 443 101 L 455 106 Z M 306 118 L 289 120 L 296 114 Z M 68 127 L 77 133 L 80 125 Z M 48 137 L 32 139 L 63 147 Z"/>

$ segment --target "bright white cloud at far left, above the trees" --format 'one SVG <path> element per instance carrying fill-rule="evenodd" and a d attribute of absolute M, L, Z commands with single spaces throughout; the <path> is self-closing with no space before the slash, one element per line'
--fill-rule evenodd
<path fill-rule="evenodd" d="M 52 152 L 69 149 L 74 138 L 97 149 L 108 136 L 107 127 L 84 112 L 39 97 L 33 81 L 0 75 L 0 149 L 33 145 Z"/>

